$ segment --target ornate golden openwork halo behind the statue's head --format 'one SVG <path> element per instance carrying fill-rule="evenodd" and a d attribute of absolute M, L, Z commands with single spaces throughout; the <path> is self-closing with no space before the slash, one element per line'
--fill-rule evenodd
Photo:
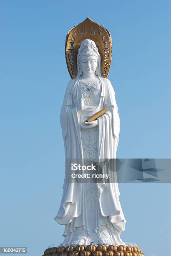
<path fill-rule="evenodd" d="M 77 54 L 80 44 L 85 39 L 95 42 L 101 55 L 101 76 L 106 78 L 112 59 L 112 38 L 109 31 L 102 25 L 86 18 L 82 23 L 70 29 L 66 36 L 65 57 L 70 77 L 77 76 Z"/>

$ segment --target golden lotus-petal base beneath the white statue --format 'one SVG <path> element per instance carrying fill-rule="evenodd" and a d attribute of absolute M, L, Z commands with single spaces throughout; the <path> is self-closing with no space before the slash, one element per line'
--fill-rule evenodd
<path fill-rule="evenodd" d="M 141 249 L 130 245 L 69 245 L 47 248 L 43 256 L 144 256 Z"/>

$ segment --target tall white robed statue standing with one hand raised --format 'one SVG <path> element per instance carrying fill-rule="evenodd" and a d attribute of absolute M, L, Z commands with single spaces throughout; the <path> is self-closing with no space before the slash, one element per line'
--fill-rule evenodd
<path fill-rule="evenodd" d="M 85 120 L 103 108 L 97 120 Z M 115 159 L 120 122 L 111 82 L 101 76 L 101 56 L 93 40 L 82 41 L 77 77 L 65 92 L 60 123 L 65 159 Z M 65 161 L 63 197 L 55 220 L 65 225 L 65 244 L 124 244 L 120 233 L 126 220 L 119 202 L 118 183 L 68 183 Z M 92 203 L 93 202 L 93 203 Z"/>

